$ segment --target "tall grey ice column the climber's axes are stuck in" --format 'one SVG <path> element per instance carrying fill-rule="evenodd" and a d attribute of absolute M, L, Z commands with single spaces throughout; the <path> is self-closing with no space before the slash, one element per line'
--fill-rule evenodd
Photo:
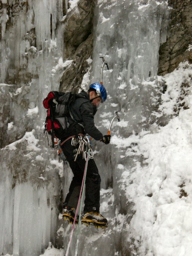
<path fill-rule="evenodd" d="M 100 81 L 100 56 L 105 57 L 109 70 L 105 67 L 103 72 L 108 99 L 98 110 L 95 123 L 106 134 L 115 111 L 119 111 L 120 122 L 114 121 L 110 145 L 95 145 L 102 188 L 100 212 L 108 218 L 109 227 L 105 231 L 82 227 L 80 255 L 144 255 L 137 254 L 140 237 L 135 240 L 126 229 L 135 209 L 125 190 L 127 183 L 133 182 L 129 175 L 137 165 L 145 164 L 137 148 L 138 133 L 153 130 L 157 121 L 161 91 L 158 50 L 166 39 L 168 19 L 167 1 L 97 1 L 90 83 Z M 65 228 L 68 240 L 69 227 Z M 70 255 L 74 250 L 75 238 Z"/>

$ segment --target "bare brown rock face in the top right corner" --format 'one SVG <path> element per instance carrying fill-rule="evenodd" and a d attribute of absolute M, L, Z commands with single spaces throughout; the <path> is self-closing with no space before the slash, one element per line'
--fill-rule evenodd
<path fill-rule="evenodd" d="M 169 0 L 172 6 L 169 36 L 159 49 L 158 75 L 172 72 L 182 61 L 192 63 L 192 2 L 190 0 Z"/>

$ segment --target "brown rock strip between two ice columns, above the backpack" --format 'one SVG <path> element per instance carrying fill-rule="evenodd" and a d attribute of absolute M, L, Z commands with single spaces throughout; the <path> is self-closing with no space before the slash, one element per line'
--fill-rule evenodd
<path fill-rule="evenodd" d="M 64 59 L 73 59 L 73 64 L 64 72 L 60 91 L 77 91 L 83 75 L 87 72 L 88 59 L 92 54 L 92 27 L 94 1 L 80 0 L 76 11 L 68 11 L 64 20 Z"/>

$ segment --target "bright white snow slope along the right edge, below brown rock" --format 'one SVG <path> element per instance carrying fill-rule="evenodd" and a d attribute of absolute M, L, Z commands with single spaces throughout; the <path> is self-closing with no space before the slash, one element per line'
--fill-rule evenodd
<path fill-rule="evenodd" d="M 167 82 L 161 108 L 173 115 L 181 84 L 190 82 L 191 66 L 181 63 L 177 70 L 159 77 Z M 174 94 L 175 92 L 175 94 Z M 192 100 L 192 89 L 185 97 Z M 166 106 L 165 106 L 166 103 Z M 191 107 L 191 106 L 190 106 Z M 129 137 L 131 139 L 131 136 Z M 192 115 L 191 108 L 180 111 L 164 127 L 154 133 L 139 133 L 137 154 L 143 161 L 123 168 L 120 188 L 134 203 L 130 224 L 124 228 L 135 242 L 138 255 L 191 255 L 192 234 Z"/>

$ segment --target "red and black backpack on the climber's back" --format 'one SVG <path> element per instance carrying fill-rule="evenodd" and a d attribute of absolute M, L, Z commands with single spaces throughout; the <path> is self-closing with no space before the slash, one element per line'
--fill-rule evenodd
<path fill-rule="evenodd" d="M 52 147 L 55 147 L 54 137 L 61 139 L 67 134 L 69 123 L 67 117 L 70 115 L 70 104 L 75 101 L 76 94 L 72 92 L 49 92 L 43 100 L 44 108 L 47 109 L 47 117 L 45 119 L 44 133 L 47 132 L 52 136 Z M 73 119 L 73 118 L 72 118 Z"/>

